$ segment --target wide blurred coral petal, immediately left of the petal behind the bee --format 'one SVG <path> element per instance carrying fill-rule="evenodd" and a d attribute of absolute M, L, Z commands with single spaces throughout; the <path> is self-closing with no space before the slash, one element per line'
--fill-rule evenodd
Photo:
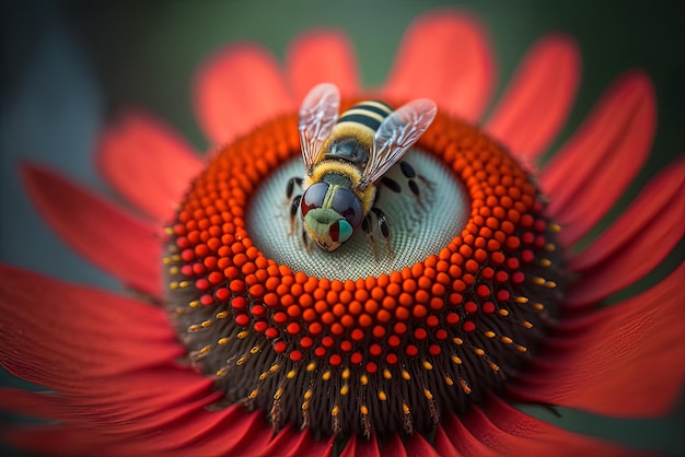
<path fill-rule="evenodd" d="M 256 45 L 220 50 L 202 65 L 196 78 L 197 117 L 214 144 L 230 142 L 293 107 L 278 63 Z"/>

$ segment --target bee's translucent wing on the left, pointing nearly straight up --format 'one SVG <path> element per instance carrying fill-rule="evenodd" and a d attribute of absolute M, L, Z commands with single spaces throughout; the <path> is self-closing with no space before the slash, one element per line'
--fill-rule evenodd
<path fill-rule="evenodd" d="M 304 168 L 309 174 L 316 163 L 316 156 L 338 119 L 340 93 L 335 84 L 323 83 L 314 86 L 300 105 L 300 147 Z"/>

